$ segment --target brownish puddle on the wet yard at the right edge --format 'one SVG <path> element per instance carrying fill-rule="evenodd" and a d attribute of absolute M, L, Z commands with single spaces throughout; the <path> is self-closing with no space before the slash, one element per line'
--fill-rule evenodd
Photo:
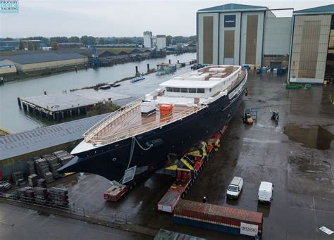
<path fill-rule="evenodd" d="M 309 125 L 307 127 L 288 125 L 284 128 L 284 134 L 291 141 L 302 143 L 302 146 L 310 149 L 330 149 L 330 143 L 334 139 L 333 134 L 319 125 Z"/>

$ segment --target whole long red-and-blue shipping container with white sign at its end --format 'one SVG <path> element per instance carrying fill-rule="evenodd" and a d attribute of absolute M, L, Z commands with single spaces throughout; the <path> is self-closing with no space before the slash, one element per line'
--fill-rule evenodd
<path fill-rule="evenodd" d="M 263 215 L 181 199 L 174 209 L 174 222 L 230 234 L 261 237 Z"/>

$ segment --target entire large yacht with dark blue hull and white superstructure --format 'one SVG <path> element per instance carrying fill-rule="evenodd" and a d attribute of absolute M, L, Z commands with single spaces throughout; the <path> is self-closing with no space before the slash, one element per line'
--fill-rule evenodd
<path fill-rule="evenodd" d="M 247 70 L 210 65 L 171 78 L 83 135 L 58 172 L 89 172 L 126 182 L 163 168 L 227 124 L 242 101 Z M 129 170 L 131 173 L 129 173 Z"/>

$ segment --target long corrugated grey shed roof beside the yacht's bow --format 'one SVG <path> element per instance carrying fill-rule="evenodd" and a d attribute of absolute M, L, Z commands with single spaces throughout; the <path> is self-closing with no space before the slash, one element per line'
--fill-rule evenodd
<path fill-rule="evenodd" d="M 0 160 L 82 139 L 82 134 L 108 114 L 0 137 Z"/>

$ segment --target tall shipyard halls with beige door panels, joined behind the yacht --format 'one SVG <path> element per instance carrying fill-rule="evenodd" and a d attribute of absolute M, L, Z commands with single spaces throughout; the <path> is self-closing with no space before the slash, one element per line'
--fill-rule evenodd
<path fill-rule="evenodd" d="M 200 9 L 197 61 L 291 68 L 290 82 L 322 83 L 333 69 L 333 14 L 334 4 L 295 11 L 285 18 L 276 17 L 266 6 Z"/>

